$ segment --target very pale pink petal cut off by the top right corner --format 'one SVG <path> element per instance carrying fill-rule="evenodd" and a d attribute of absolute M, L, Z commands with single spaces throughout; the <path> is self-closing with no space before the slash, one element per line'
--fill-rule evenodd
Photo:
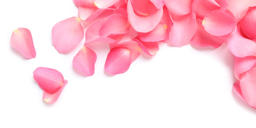
<path fill-rule="evenodd" d="M 227 0 L 227 1 L 229 4 L 227 9 L 234 14 L 237 21 L 240 21 L 245 16 L 249 7 L 256 3 L 256 0 Z"/>

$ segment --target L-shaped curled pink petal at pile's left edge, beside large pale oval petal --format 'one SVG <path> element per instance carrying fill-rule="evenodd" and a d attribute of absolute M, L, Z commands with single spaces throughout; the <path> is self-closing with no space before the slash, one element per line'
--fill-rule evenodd
<path fill-rule="evenodd" d="M 119 40 L 121 40 L 122 35 L 115 35 L 112 37 L 101 37 L 99 35 L 99 31 L 103 24 L 104 20 L 99 20 L 88 27 L 85 35 L 85 44 L 91 42 L 116 43 Z"/>

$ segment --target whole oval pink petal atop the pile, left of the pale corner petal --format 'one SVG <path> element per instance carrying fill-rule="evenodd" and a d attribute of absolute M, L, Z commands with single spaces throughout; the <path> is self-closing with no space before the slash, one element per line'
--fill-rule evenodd
<path fill-rule="evenodd" d="M 205 16 L 202 25 L 206 32 L 215 36 L 221 36 L 233 31 L 235 21 L 227 13 L 214 10 Z"/>

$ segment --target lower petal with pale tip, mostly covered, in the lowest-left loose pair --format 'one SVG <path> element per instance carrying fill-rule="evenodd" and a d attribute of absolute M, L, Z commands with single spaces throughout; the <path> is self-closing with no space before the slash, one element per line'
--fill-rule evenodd
<path fill-rule="evenodd" d="M 68 83 L 68 81 L 64 80 L 63 86 L 57 92 L 55 92 L 53 94 L 48 94 L 45 91 L 43 91 L 43 100 L 49 104 L 56 102 L 57 99 L 59 98 L 63 88 L 66 86 L 67 83 Z"/>

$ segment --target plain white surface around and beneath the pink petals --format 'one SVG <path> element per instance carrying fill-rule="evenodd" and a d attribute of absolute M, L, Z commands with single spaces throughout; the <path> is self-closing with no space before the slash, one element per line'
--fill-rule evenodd
<path fill-rule="evenodd" d="M 77 16 L 72 0 L 0 1 L 0 128 L 255 128 L 256 110 L 232 92 L 234 58 L 226 45 L 213 50 L 160 45 L 152 58 L 141 55 L 129 70 L 108 76 L 107 45 L 91 47 L 95 74 L 84 77 L 72 65 L 83 41 L 71 53 L 51 44 L 55 23 Z M 26 60 L 9 45 L 13 30 L 32 32 L 37 51 Z M 33 71 L 45 66 L 69 81 L 52 105 Z"/>

